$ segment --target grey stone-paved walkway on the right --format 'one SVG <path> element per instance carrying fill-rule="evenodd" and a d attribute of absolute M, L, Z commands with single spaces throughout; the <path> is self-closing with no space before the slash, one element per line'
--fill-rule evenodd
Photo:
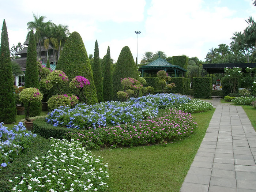
<path fill-rule="evenodd" d="M 241 106 L 219 101 L 180 192 L 256 192 L 256 132 Z"/>

